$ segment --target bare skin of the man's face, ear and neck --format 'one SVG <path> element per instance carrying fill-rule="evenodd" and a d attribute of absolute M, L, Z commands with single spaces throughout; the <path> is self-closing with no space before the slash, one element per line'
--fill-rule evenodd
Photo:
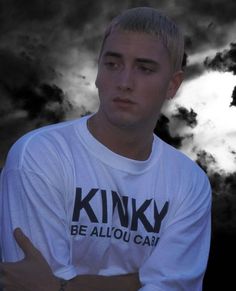
<path fill-rule="evenodd" d="M 172 71 L 156 36 L 114 31 L 99 59 L 100 107 L 89 120 L 91 133 L 120 155 L 147 159 L 161 107 L 174 97 L 182 79 L 183 72 Z"/>

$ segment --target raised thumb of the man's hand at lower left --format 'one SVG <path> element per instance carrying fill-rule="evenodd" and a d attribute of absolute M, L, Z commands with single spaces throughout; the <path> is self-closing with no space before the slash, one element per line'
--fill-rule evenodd
<path fill-rule="evenodd" d="M 34 257 L 39 253 L 39 251 L 32 244 L 31 240 L 23 233 L 20 228 L 16 228 L 13 234 L 17 244 L 22 249 L 26 257 Z"/>

